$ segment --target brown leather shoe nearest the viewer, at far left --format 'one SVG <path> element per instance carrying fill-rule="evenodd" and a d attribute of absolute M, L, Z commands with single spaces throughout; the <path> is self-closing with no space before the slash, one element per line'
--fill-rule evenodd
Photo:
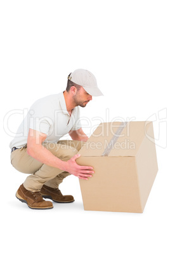
<path fill-rule="evenodd" d="M 32 192 L 20 185 L 16 192 L 16 198 L 18 198 L 22 203 L 26 203 L 29 208 L 32 209 L 51 209 L 53 208 L 53 203 L 50 201 L 45 201 L 40 192 Z"/>

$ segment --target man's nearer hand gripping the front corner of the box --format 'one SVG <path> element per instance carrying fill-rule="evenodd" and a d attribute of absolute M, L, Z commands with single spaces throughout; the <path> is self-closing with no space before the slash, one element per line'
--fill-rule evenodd
<path fill-rule="evenodd" d="M 95 173 L 95 171 L 93 171 L 93 167 L 91 166 L 79 166 L 75 160 L 80 156 L 80 154 L 74 155 L 74 157 L 65 162 L 65 171 L 80 179 L 88 180 L 88 177 L 92 177 L 91 173 Z"/>

